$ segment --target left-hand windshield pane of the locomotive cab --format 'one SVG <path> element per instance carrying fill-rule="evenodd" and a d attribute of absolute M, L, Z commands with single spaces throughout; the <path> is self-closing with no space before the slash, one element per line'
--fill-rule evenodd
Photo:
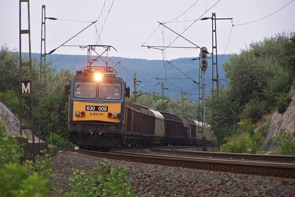
<path fill-rule="evenodd" d="M 80 81 L 74 84 L 74 97 L 76 98 L 95 98 L 96 82 Z"/>

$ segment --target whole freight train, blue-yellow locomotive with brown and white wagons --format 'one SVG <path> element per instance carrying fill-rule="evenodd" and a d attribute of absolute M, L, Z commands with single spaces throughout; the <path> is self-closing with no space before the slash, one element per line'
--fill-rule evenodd
<path fill-rule="evenodd" d="M 109 67 L 76 71 L 69 95 L 68 136 L 80 147 L 199 146 L 203 123 L 126 100 L 130 87 Z M 206 127 L 206 141 L 212 133 Z"/>

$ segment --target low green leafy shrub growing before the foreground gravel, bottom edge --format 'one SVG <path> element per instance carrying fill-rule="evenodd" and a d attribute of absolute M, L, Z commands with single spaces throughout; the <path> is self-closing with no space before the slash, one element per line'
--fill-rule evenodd
<path fill-rule="evenodd" d="M 104 160 L 90 174 L 85 170 L 73 170 L 69 178 L 71 192 L 63 193 L 55 188 L 55 196 L 132 196 L 133 187 L 128 180 L 130 173 L 124 166 L 112 169 L 110 163 Z"/>

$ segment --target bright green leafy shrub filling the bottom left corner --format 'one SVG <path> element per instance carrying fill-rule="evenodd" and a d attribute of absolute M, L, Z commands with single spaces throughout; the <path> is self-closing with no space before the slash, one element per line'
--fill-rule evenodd
<path fill-rule="evenodd" d="M 50 174 L 51 160 L 37 157 L 36 162 L 23 162 L 20 146 L 15 137 L 11 139 L 5 135 L 6 129 L 0 120 L 0 196 L 46 196 L 49 192 L 54 174 Z"/>

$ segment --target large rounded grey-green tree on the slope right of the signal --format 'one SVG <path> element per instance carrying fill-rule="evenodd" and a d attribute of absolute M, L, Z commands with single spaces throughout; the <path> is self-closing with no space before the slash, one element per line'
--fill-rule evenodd
<path fill-rule="evenodd" d="M 285 89 L 289 76 L 283 58 L 288 36 L 277 34 L 253 42 L 240 54 L 232 54 L 222 65 L 229 82 L 230 97 L 240 101 L 239 108 L 243 113 L 239 118 L 250 118 L 255 122 L 275 108 L 275 98 Z"/>

